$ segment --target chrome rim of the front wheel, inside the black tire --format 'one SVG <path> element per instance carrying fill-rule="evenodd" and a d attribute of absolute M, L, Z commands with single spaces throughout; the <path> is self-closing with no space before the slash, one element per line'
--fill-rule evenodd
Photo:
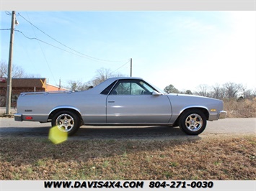
<path fill-rule="evenodd" d="M 185 119 L 185 126 L 190 131 L 198 131 L 203 126 L 203 118 L 196 113 L 192 113 Z"/>

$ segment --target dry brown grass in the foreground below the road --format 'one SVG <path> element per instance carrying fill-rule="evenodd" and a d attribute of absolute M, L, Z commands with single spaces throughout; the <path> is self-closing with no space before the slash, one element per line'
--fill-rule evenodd
<path fill-rule="evenodd" d="M 255 180 L 255 136 L 1 138 L 0 180 Z"/>

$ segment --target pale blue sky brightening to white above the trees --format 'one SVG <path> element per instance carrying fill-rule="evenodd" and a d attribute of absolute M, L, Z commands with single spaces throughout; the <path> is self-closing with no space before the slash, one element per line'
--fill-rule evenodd
<path fill-rule="evenodd" d="M 242 83 L 256 88 L 255 11 L 16 11 L 13 64 L 52 85 L 100 68 L 164 89 Z M 1 11 L 1 61 L 12 17 Z M 39 40 L 37 40 L 37 39 Z"/>

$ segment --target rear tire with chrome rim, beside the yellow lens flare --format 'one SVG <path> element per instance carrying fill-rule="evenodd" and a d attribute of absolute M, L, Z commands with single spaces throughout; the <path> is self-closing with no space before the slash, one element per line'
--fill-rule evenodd
<path fill-rule="evenodd" d="M 57 126 L 60 131 L 67 132 L 69 136 L 76 133 L 80 124 L 79 116 L 72 111 L 59 111 L 51 121 L 52 126 Z"/>

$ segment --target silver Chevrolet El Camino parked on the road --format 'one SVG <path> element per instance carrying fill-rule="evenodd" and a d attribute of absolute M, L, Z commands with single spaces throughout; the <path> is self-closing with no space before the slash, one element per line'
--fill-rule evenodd
<path fill-rule="evenodd" d="M 82 125 L 180 126 L 198 135 L 206 121 L 225 118 L 223 102 L 195 95 L 167 94 L 141 78 L 109 78 L 80 91 L 21 93 L 15 121 L 51 122 L 69 135 Z"/>

